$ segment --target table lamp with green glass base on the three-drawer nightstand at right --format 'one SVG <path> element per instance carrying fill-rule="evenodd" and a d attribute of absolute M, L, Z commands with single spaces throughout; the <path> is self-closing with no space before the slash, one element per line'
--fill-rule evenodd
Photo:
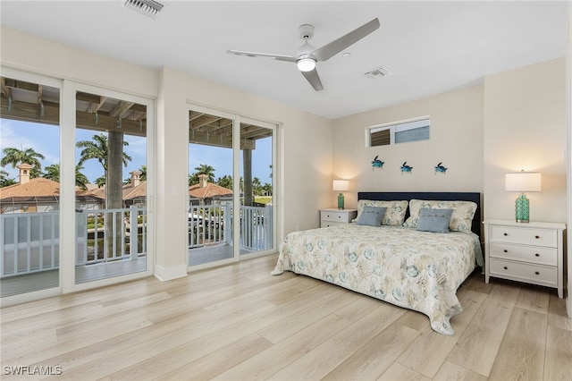
<path fill-rule="evenodd" d="M 517 172 L 504 175 L 505 190 L 518 191 L 520 194 L 515 201 L 515 213 L 518 223 L 530 221 L 530 201 L 526 199 L 526 191 L 540 191 L 542 174 L 538 172 Z"/>

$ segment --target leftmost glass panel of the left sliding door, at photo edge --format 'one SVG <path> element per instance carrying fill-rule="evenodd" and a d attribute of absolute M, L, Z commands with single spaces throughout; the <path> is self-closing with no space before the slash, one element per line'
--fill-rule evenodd
<path fill-rule="evenodd" d="M 3 71 L 2 297 L 60 286 L 61 81 Z"/>

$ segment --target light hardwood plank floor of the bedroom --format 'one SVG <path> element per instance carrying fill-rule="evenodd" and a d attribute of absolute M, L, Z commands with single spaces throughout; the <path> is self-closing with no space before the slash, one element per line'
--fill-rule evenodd
<path fill-rule="evenodd" d="M 275 261 L 4 308 L 2 379 L 44 378 L 6 375 L 22 366 L 58 380 L 572 379 L 572 319 L 550 289 L 472 275 L 444 336 L 420 313 L 270 275 Z"/>

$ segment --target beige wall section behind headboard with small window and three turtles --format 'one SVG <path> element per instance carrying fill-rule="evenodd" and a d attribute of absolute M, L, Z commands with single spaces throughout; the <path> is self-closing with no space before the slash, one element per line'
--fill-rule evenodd
<path fill-rule="evenodd" d="M 429 115 L 430 140 L 366 148 L 366 128 Z M 349 179 L 347 207 L 357 191 L 483 191 L 483 86 L 451 91 L 334 121 L 333 177 Z M 375 156 L 382 169 L 371 165 Z M 407 161 L 411 174 L 401 174 Z M 439 162 L 446 174 L 435 174 Z M 335 195 L 330 197 L 331 206 Z"/>

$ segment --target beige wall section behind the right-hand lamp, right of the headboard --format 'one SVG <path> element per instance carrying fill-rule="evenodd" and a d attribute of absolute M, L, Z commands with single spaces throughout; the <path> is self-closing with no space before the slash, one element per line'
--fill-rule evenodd
<path fill-rule="evenodd" d="M 504 174 L 524 169 L 543 174 L 531 220 L 567 222 L 565 73 L 559 58 L 484 78 L 485 218 L 514 218 Z"/>

